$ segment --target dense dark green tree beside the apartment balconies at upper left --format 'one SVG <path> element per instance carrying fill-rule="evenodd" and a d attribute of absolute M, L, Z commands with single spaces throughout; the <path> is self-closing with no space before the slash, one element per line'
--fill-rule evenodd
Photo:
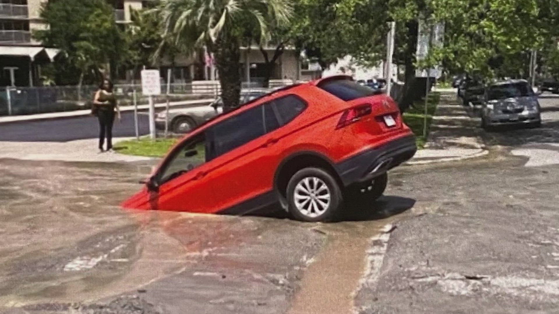
<path fill-rule="evenodd" d="M 114 56 L 123 55 L 122 34 L 113 8 L 104 0 L 45 2 L 40 16 L 49 28 L 35 31 L 33 36 L 60 49 L 66 62 L 79 69 L 80 86 L 89 71 L 102 75 Z"/>

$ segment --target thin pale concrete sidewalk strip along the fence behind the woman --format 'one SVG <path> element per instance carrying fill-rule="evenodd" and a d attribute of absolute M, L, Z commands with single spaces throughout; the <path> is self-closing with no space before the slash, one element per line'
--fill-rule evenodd
<path fill-rule="evenodd" d="M 196 106 L 201 104 L 206 104 L 214 101 L 214 98 L 208 99 L 197 99 L 193 101 L 178 101 L 170 102 L 170 107 L 176 106 Z M 167 103 L 157 103 L 155 108 L 165 108 Z M 138 106 L 138 110 L 148 110 L 149 104 L 141 104 Z M 120 111 L 134 111 L 134 106 L 123 106 L 120 107 Z M 35 115 L 22 115 L 22 116 L 4 116 L 0 117 L 0 123 L 11 123 L 11 122 L 25 122 L 25 121 L 40 121 L 49 119 L 59 119 L 59 118 L 73 118 L 91 115 L 91 110 L 76 110 L 76 111 L 64 111 L 64 112 L 49 112 L 49 113 L 37 113 Z"/>

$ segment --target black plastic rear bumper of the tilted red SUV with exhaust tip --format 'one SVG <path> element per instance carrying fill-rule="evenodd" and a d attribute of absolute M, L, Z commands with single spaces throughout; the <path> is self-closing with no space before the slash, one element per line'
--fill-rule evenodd
<path fill-rule="evenodd" d="M 413 158 L 416 151 L 415 136 L 408 135 L 344 160 L 335 165 L 335 168 L 347 187 L 386 173 Z"/>

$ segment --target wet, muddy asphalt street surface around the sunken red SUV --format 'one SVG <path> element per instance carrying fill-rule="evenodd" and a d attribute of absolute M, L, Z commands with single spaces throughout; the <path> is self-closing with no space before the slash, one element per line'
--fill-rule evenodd
<path fill-rule="evenodd" d="M 559 312 L 559 165 L 510 155 L 559 142 L 559 99 L 542 106 L 542 129 L 396 169 L 328 224 L 124 211 L 150 164 L 0 160 L 0 313 Z"/>

